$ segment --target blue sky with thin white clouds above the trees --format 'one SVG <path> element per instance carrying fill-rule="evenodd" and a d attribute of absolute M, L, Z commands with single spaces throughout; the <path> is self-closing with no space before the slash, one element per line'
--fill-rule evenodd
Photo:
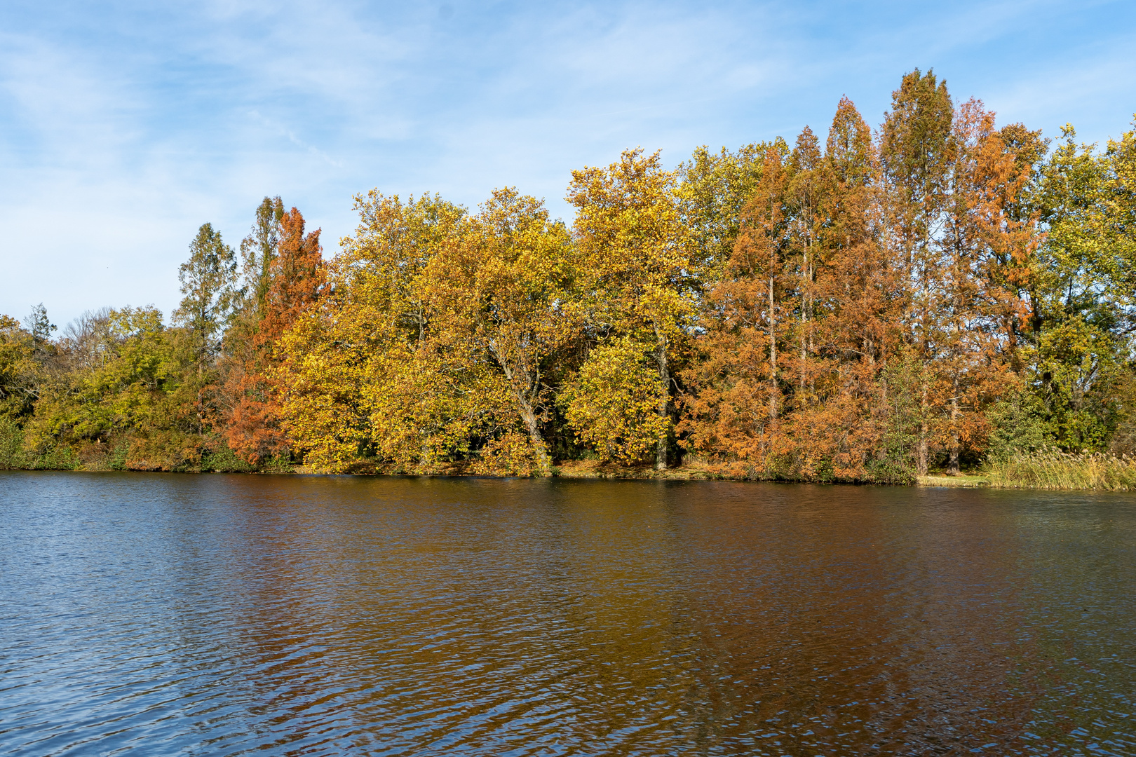
<path fill-rule="evenodd" d="M 0 312 L 168 314 L 197 228 L 235 246 L 266 194 L 325 255 L 371 187 L 567 218 L 574 168 L 824 134 L 842 94 L 879 124 L 914 67 L 1103 142 L 1136 111 L 1136 3 L 5 0 Z"/>

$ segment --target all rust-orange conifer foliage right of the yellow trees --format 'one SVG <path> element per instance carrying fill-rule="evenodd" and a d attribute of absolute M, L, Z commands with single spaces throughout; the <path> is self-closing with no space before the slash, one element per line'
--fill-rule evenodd
<path fill-rule="evenodd" d="M 980 103 L 944 138 L 945 199 L 930 210 L 917 192 L 888 194 L 846 98 L 824 155 L 808 128 L 792 153 L 767 152 L 684 376 L 692 449 L 735 474 L 878 480 L 918 462 L 895 456 L 911 438 L 954 470 L 982 448 L 1025 317 L 1011 287 L 1036 235 L 1006 208 L 1028 167 Z"/>

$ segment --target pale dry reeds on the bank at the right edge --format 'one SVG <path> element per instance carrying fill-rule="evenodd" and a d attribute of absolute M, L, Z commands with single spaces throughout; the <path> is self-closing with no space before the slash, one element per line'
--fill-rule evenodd
<path fill-rule="evenodd" d="M 1108 452 L 1039 449 L 991 463 L 992 487 L 1003 489 L 1136 490 L 1136 459 Z"/>

